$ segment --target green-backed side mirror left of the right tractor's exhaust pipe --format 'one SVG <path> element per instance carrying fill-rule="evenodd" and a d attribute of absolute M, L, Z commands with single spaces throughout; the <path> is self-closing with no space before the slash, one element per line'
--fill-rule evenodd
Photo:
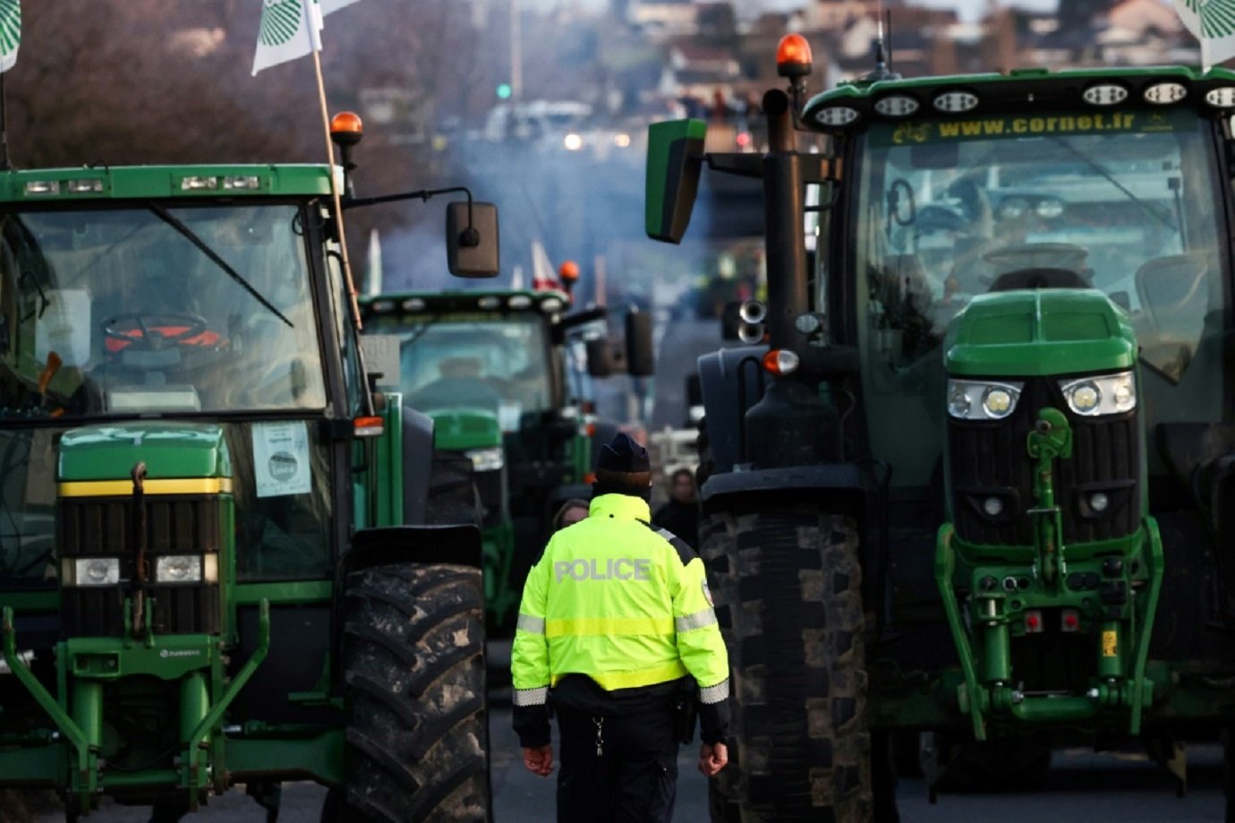
<path fill-rule="evenodd" d="M 668 120 L 647 127 L 643 222 L 652 240 L 682 242 L 699 193 L 706 131 L 703 120 Z"/>

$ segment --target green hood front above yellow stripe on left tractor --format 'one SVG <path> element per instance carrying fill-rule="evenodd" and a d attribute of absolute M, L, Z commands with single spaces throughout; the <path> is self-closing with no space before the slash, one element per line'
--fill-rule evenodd
<path fill-rule="evenodd" d="M 151 479 L 231 478 L 224 429 L 195 423 L 84 426 L 61 439 L 59 482 L 127 481 L 146 463 Z"/>

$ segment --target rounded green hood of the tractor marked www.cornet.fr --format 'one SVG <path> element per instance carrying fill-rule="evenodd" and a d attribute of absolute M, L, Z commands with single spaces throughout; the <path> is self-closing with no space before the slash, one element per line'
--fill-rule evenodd
<path fill-rule="evenodd" d="M 1094 289 L 983 294 L 958 314 L 944 342 L 950 374 L 1039 377 L 1132 368 L 1128 315 Z"/>

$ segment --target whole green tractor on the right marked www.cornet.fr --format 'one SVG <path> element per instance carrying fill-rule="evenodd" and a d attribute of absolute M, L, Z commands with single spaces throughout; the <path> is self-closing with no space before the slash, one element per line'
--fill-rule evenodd
<path fill-rule="evenodd" d="M 906 739 L 931 800 L 1132 743 L 1182 792 L 1235 724 L 1235 73 L 778 67 L 763 153 L 648 150 L 652 237 L 704 164 L 767 216 L 763 342 L 700 358 L 713 819 L 894 819 Z"/>

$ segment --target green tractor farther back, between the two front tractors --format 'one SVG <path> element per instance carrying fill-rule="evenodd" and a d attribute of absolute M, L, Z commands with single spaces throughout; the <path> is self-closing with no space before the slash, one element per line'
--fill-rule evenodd
<path fill-rule="evenodd" d="M 595 414 L 590 379 L 652 373 L 652 316 L 627 313 L 619 348 L 597 329 L 606 310 L 571 311 L 569 289 L 556 284 L 387 292 L 362 298 L 361 311 L 366 337 L 398 350 L 382 384 L 432 418 L 438 452 L 473 463 L 489 628 L 509 634 L 553 512 L 590 497 L 593 445 L 616 434 Z"/>

